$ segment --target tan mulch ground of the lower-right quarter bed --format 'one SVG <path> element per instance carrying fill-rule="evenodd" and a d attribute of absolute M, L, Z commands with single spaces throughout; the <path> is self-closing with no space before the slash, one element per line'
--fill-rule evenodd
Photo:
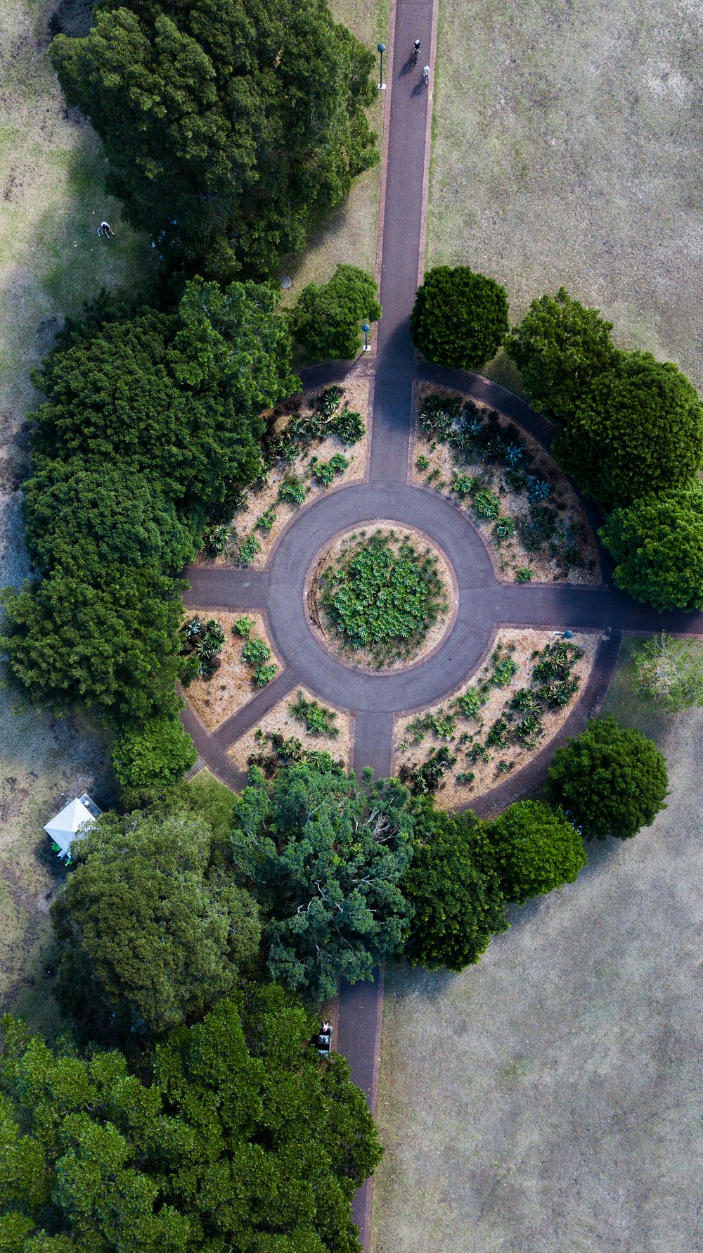
<path fill-rule="evenodd" d="M 459 688 L 454 697 L 444 700 L 442 704 L 430 705 L 427 709 L 421 710 L 420 714 L 416 712 L 411 715 L 396 718 L 393 727 L 393 774 L 398 774 L 404 766 L 421 766 L 432 749 L 445 747 L 452 757 L 456 757 L 456 762 L 451 769 L 447 769 L 435 793 L 437 804 L 444 809 L 451 809 L 456 806 L 469 803 L 471 799 L 482 796 L 484 792 L 489 792 L 505 774 L 520 771 L 526 766 L 531 752 L 544 748 L 545 744 L 549 744 L 554 739 L 588 683 L 600 639 L 601 637 L 598 634 L 578 634 L 574 638 L 573 643 L 578 644 L 583 654 L 571 669 L 571 678 L 579 684 L 578 690 L 563 708 L 548 708 L 544 710 L 544 733 L 533 748 L 515 741 L 490 747 L 486 746 L 486 737 L 490 728 L 510 707 L 510 702 L 519 688 L 534 688 L 536 690 L 536 684 L 533 680 L 533 669 L 538 660 L 536 654 L 541 653 L 546 645 L 555 643 L 553 632 L 500 630 L 496 635 L 491 655 L 486 659 L 481 669 Z M 479 715 L 476 718 L 467 718 L 455 705 L 455 700 L 462 697 L 470 688 L 480 684 L 481 680 L 490 678 L 494 672 L 492 655 L 495 655 L 496 649 L 500 649 L 503 655 L 510 655 L 518 669 L 508 685 L 491 685 L 486 692 L 487 699 L 481 705 Z M 420 744 L 417 741 L 412 743 L 414 732 L 411 723 L 424 714 L 455 714 L 456 728 L 449 738 L 442 738 L 432 729 L 425 730 L 421 733 Z M 472 758 L 472 752 L 474 757 L 479 757 L 477 761 Z M 464 776 L 464 778 L 460 779 L 459 776 Z M 472 776 L 472 778 L 469 779 L 467 776 Z"/>

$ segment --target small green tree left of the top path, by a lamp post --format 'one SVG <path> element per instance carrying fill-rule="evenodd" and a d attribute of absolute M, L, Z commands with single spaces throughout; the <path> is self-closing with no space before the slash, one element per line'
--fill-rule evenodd
<path fill-rule="evenodd" d="M 351 361 L 361 348 L 361 323 L 380 317 L 371 274 L 356 266 L 337 266 L 323 286 L 303 287 L 291 312 L 291 327 L 311 361 Z"/>

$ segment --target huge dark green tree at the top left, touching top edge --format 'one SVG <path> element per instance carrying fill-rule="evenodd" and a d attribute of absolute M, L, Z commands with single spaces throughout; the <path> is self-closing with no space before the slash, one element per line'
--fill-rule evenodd
<path fill-rule="evenodd" d="M 377 160 L 373 58 L 325 0 L 102 0 L 51 60 L 129 221 L 190 273 L 269 274 Z"/>

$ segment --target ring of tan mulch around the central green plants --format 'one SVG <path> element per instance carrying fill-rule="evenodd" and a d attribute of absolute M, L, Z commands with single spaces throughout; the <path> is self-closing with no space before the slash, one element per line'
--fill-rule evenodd
<path fill-rule="evenodd" d="M 388 663 L 383 662 L 382 664 L 375 660 L 371 649 L 353 648 L 348 643 L 341 632 L 336 629 L 335 624 L 330 621 L 328 615 L 322 609 L 320 600 L 320 583 L 322 575 L 327 570 L 338 565 L 340 560 L 350 548 L 371 535 L 387 535 L 390 539 L 410 540 L 410 543 L 414 544 L 421 553 L 430 551 L 437 560 L 437 574 L 446 593 L 446 611 L 437 615 L 437 620 L 427 629 L 422 643 L 414 652 L 404 653 L 395 660 Z M 424 531 L 402 528 L 396 523 L 386 520 L 373 523 L 372 528 L 368 530 L 343 531 L 341 535 L 337 535 L 320 558 L 306 586 L 306 609 L 308 620 L 325 647 L 330 649 L 331 653 L 340 657 L 347 665 L 353 665 L 355 669 L 368 670 L 370 673 L 376 673 L 380 669 L 383 669 L 383 673 L 388 673 L 392 670 L 402 670 L 411 665 L 417 665 L 417 663 L 427 658 L 444 639 L 454 623 L 457 608 L 459 591 L 455 586 L 451 569 L 442 550 L 437 548 L 437 545 L 434 544 L 430 536 L 425 535 Z"/>

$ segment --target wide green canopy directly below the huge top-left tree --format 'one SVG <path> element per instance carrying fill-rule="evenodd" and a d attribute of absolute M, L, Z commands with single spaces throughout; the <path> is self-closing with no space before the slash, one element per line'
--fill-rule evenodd
<path fill-rule="evenodd" d="M 279 291 L 193 279 L 173 315 L 88 323 L 49 355 L 35 383 L 34 462 L 149 480 L 183 515 L 203 517 L 261 470 L 262 410 L 299 387 Z M 35 539 L 36 543 L 36 539 Z"/>

